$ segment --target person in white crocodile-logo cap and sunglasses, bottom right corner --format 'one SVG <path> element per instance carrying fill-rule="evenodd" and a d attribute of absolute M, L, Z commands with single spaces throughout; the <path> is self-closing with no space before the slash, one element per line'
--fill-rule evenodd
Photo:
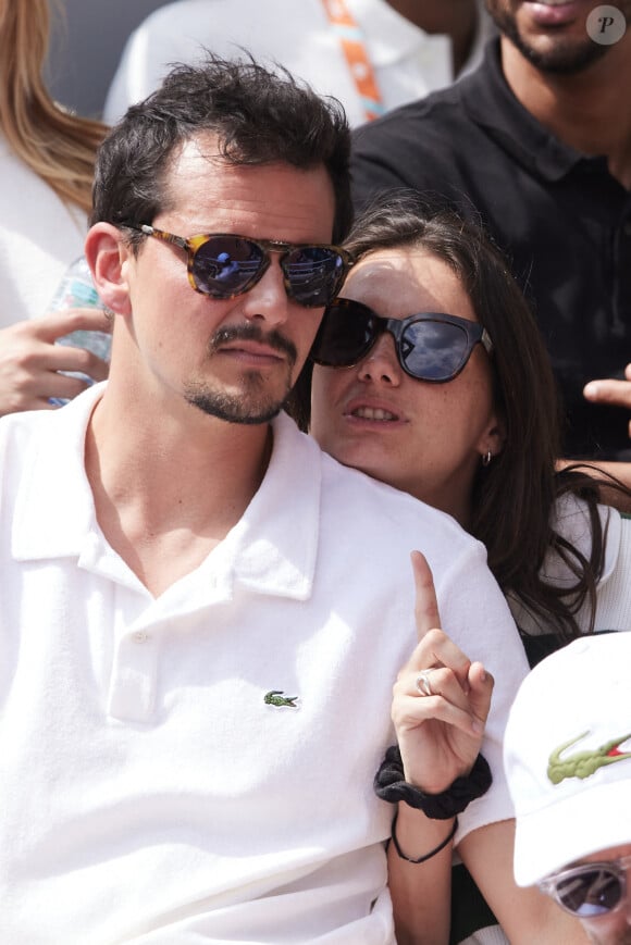
<path fill-rule="evenodd" d="M 598 945 L 631 943 L 630 664 L 629 632 L 576 641 L 525 679 L 506 729 L 515 878 Z"/>

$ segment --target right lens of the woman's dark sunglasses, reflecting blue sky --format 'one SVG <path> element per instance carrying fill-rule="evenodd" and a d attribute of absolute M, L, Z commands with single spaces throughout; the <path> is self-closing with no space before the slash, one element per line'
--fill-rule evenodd
<path fill-rule="evenodd" d="M 448 381 L 467 357 L 467 333 L 449 322 L 412 322 L 400 340 L 406 371 L 422 381 Z"/>

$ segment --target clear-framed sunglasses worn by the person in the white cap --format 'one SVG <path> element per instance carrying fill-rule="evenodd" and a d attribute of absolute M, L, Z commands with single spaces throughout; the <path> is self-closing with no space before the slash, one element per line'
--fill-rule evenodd
<path fill-rule="evenodd" d="M 627 897 L 631 856 L 561 870 L 540 883 L 561 909 L 579 919 L 596 919 L 615 911 Z"/>

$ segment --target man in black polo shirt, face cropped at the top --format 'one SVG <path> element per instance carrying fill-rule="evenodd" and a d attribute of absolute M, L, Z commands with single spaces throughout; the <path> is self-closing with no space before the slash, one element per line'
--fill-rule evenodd
<path fill-rule="evenodd" d="M 583 395 L 631 360 L 631 0 L 609 45 L 589 0 L 486 5 L 502 35 L 477 72 L 355 133 L 355 203 L 411 186 L 482 222 L 543 331 L 565 455 L 631 460 L 627 413 Z"/>

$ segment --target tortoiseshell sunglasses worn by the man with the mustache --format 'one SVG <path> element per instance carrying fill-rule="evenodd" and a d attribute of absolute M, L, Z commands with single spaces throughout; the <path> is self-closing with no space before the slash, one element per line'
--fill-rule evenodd
<path fill-rule="evenodd" d="M 232 299 L 249 291 L 269 269 L 270 253 L 279 252 L 289 298 L 307 308 L 326 306 L 335 298 L 351 264 L 350 254 L 338 246 L 294 245 L 231 233 L 186 239 L 146 223 L 129 228 L 186 250 L 188 282 L 196 291 L 213 299 Z"/>

